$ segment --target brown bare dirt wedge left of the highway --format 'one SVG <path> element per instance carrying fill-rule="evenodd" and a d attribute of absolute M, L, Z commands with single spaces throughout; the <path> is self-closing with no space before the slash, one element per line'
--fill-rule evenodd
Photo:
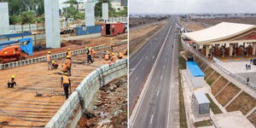
<path fill-rule="evenodd" d="M 148 38 L 151 38 L 154 33 L 159 32 L 160 29 L 166 25 L 166 21 L 160 22 L 152 26 L 145 26 L 130 31 L 129 34 L 129 51 L 130 54 L 140 48 Z"/>

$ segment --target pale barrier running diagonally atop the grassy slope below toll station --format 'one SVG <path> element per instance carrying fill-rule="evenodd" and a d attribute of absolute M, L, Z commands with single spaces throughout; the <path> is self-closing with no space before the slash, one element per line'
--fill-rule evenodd
<path fill-rule="evenodd" d="M 247 87 L 253 89 L 253 90 L 256 90 L 256 85 L 255 84 L 252 84 L 252 83 L 247 83 L 247 80 L 246 79 L 242 79 L 240 76 L 237 76 L 236 74 L 234 73 L 230 73 L 230 71 L 228 71 L 227 69 L 225 69 L 224 67 L 221 67 L 220 65 L 218 65 L 216 62 L 214 61 L 209 61 L 207 59 L 207 57 L 205 55 L 202 55 L 199 51 L 197 51 L 196 49 L 192 48 L 189 44 L 186 44 L 183 39 L 181 38 L 182 40 L 182 44 L 183 44 L 183 47 L 185 49 L 189 49 L 190 52 L 192 52 L 193 54 L 195 55 L 198 55 L 199 57 L 201 57 L 202 60 L 204 60 L 205 62 L 207 62 L 207 64 L 212 64 L 214 65 L 215 67 L 218 67 L 219 70 L 221 70 L 223 73 L 229 75 L 230 77 L 232 77 L 233 79 L 236 79 L 238 82 L 240 82 L 241 84 L 243 85 L 246 85 Z"/>

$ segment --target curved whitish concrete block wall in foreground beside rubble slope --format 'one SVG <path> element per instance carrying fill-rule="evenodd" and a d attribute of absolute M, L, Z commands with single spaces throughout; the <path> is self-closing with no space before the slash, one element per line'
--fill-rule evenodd
<path fill-rule="evenodd" d="M 127 59 L 119 60 L 111 66 L 104 65 L 90 73 L 73 91 L 55 116 L 49 120 L 46 128 L 74 128 L 82 113 L 90 111 L 93 106 L 96 91 L 104 84 L 127 75 Z"/>

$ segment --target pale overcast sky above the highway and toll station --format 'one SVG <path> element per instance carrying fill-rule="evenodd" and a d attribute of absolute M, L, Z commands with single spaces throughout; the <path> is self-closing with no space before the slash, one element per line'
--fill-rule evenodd
<path fill-rule="evenodd" d="M 256 0 L 129 0 L 130 14 L 256 13 Z"/>

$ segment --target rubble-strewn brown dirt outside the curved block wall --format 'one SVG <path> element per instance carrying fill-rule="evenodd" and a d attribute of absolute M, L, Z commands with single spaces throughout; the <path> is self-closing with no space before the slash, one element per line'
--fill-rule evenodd
<path fill-rule="evenodd" d="M 116 79 L 97 91 L 91 113 L 84 113 L 78 128 L 127 127 L 127 77 Z"/>

